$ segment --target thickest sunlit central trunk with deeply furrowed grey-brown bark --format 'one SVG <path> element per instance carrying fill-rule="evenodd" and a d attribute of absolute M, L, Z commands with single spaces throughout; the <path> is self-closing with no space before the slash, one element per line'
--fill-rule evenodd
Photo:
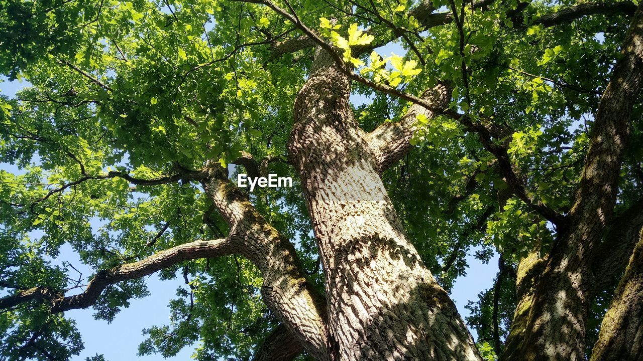
<path fill-rule="evenodd" d="M 289 141 L 326 276 L 338 360 L 480 360 L 455 304 L 403 233 L 376 154 L 325 51 L 294 107 Z"/>

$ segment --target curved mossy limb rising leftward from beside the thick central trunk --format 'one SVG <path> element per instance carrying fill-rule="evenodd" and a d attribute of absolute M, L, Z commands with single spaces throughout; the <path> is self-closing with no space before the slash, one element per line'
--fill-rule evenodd
<path fill-rule="evenodd" d="M 293 244 L 230 184 L 219 164 L 206 168 L 211 176 L 203 182 L 204 189 L 230 225 L 230 234 L 242 238 L 239 253 L 262 272 L 264 302 L 308 353 L 316 360 L 330 360 L 323 296 L 303 276 Z"/>

